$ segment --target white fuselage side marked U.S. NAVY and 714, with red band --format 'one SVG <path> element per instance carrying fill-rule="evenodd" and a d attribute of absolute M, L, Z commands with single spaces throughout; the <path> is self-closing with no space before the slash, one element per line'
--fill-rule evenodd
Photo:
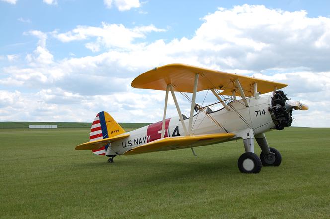
<path fill-rule="evenodd" d="M 229 111 L 222 108 L 208 115 L 200 111 L 193 117 L 192 135 L 234 133 L 235 136 L 227 140 L 230 141 L 238 138 L 244 139 L 247 132 L 249 133 L 251 130 L 254 135 L 257 135 L 269 131 L 275 126 L 268 110 L 271 106 L 271 96 L 259 96 L 257 99 L 251 97 L 247 98 L 247 101 L 248 107 L 242 100 L 235 100 L 228 104 Z M 189 119 L 184 119 L 184 122 L 188 127 Z M 129 132 L 129 137 L 111 143 L 106 155 L 121 155 L 134 147 L 159 139 L 161 130 L 162 121 L 133 130 Z M 165 138 L 184 135 L 184 129 L 178 116 L 166 119 Z"/>

